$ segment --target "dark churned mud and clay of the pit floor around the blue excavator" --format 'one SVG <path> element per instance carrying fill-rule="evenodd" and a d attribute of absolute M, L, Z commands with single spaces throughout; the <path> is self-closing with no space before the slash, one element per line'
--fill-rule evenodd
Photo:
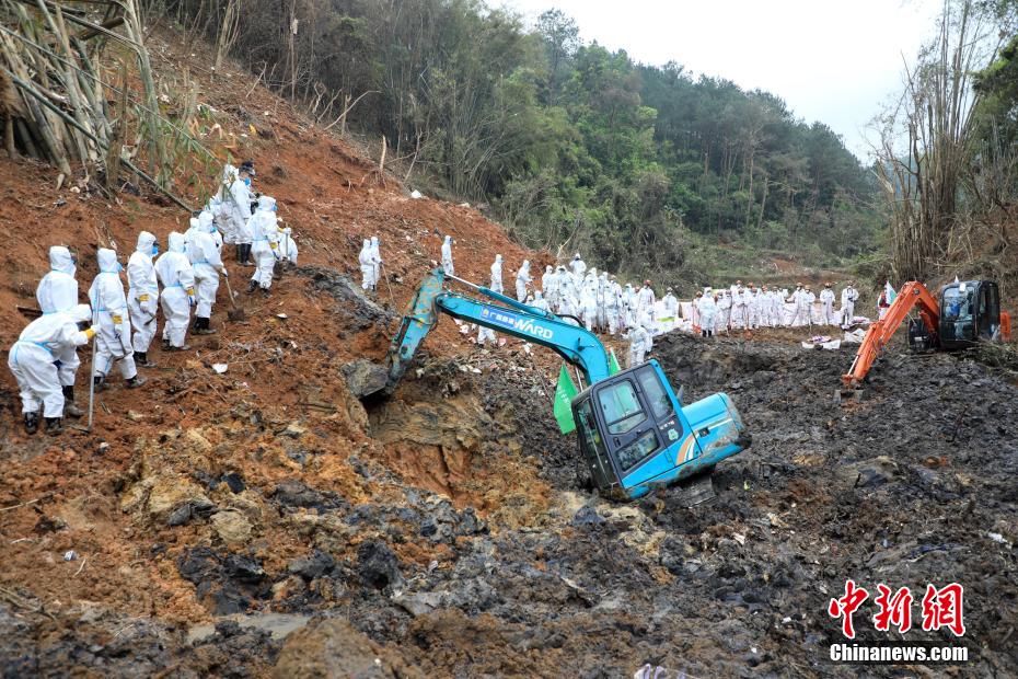
<path fill-rule="evenodd" d="M 241 538 L 250 523 L 305 548 L 274 559 L 181 533 L 160 563 L 193 585 L 200 634 L 158 610 L 54 615 L 26 586 L 0 599 L 0 675 L 617 677 L 650 663 L 855 676 L 824 661 L 838 640 L 826 603 L 846 578 L 961 583 L 972 666 L 1018 674 L 1018 389 L 964 357 L 894 354 L 866 399 L 838 405 L 845 352 L 670 335 L 655 354 L 687 400 L 727 391 L 753 434 L 718 467 L 709 504 L 601 500 L 578 485 L 575 440 L 557 435 L 552 388 L 522 353 L 425 354 L 419 377 L 367 410 L 374 445 L 351 458 L 384 491 L 195 481 L 215 507 L 192 498 L 177 530 L 233 514 L 221 536 L 235 520 Z M 860 637 L 887 638 L 869 614 Z"/>

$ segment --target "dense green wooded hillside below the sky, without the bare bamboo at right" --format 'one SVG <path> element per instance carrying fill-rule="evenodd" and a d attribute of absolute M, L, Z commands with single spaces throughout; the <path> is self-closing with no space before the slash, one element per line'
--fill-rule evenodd
<path fill-rule="evenodd" d="M 356 102 L 344 124 L 384 135 L 408 185 L 487 205 L 525 245 L 689 276 L 749 250 L 818 265 L 878 245 L 876 179 L 831 129 L 775 94 L 585 44 L 559 11 L 528 26 L 477 0 L 244 8 L 227 47 L 253 73 L 316 108 Z M 206 4 L 175 13 L 222 32 Z"/>

